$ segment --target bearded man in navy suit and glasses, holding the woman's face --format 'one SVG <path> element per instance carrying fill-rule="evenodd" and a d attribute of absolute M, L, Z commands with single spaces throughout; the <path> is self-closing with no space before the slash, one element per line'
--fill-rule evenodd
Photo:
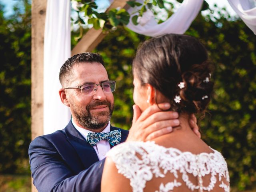
<path fill-rule="evenodd" d="M 72 119 L 63 130 L 31 142 L 28 152 L 33 183 L 39 192 L 100 191 L 106 152 L 128 136 L 128 131 L 110 125 L 115 82 L 108 79 L 102 57 L 95 53 L 72 56 L 61 67 L 59 77 L 60 99 L 70 108 Z M 168 109 L 170 105 L 161 107 Z M 142 114 L 134 106 L 127 140 L 144 141 L 169 133 L 170 125 L 179 124 L 175 118 L 177 113 L 162 112 L 156 106 Z M 100 133 L 102 140 L 95 133 Z"/>

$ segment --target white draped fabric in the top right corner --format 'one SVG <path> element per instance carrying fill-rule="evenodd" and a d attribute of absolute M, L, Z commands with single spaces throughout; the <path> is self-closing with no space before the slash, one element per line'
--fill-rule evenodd
<path fill-rule="evenodd" d="M 253 0 L 228 0 L 228 3 L 256 35 L 256 2 Z"/>

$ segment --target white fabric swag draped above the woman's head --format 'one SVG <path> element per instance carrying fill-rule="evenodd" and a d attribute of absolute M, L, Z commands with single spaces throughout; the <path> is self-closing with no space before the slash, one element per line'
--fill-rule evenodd
<path fill-rule="evenodd" d="M 137 2 L 143 1 L 137 0 Z M 154 17 L 152 17 L 144 26 L 141 26 L 140 24 L 134 25 L 130 19 L 127 27 L 136 33 L 151 37 L 168 33 L 184 34 L 201 10 L 202 3 L 203 0 L 184 0 L 180 8 L 174 14 L 172 14 L 168 20 L 161 24 L 157 24 Z M 134 8 L 128 9 L 130 14 L 133 11 Z"/>

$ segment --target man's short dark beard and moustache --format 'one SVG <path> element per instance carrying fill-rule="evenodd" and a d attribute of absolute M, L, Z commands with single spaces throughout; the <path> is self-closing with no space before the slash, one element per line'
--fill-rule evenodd
<path fill-rule="evenodd" d="M 100 106 L 100 105 L 106 105 L 109 108 L 109 111 L 100 111 L 94 115 L 90 113 L 90 109 Z M 74 116 L 76 117 L 76 120 L 78 123 L 90 130 L 98 130 L 110 121 L 110 118 L 112 116 L 113 110 L 114 110 L 114 104 L 111 104 L 109 101 L 102 101 L 102 102 L 93 102 L 86 106 L 85 110 L 81 108 L 79 109 L 78 106 L 74 105 Z"/>

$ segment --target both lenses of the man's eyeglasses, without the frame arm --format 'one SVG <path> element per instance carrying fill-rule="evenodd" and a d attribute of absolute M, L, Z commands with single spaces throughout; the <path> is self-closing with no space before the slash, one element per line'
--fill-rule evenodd
<path fill-rule="evenodd" d="M 100 84 L 102 87 L 102 90 L 106 93 L 113 92 L 116 89 L 116 82 L 114 81 L 107 81 L 102 84 Z M 97 84 L 85 84 L 81 87 L 82 94 L 90 95 L 94 94 L 97 90 Z"/>

